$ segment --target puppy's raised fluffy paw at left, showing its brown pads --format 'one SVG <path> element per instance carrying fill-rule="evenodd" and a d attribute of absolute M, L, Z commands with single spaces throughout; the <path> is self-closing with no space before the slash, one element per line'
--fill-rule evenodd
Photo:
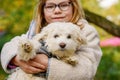
<path fill-rule="evenodd" d="M 18 57 L 20 60 L 28 61 L 29 59 L 33 59 L 36 56 L 36 49 L 34 48 L 34 44 L 31 40 L 26 38 L 21 38 L 18 44 Z"/>

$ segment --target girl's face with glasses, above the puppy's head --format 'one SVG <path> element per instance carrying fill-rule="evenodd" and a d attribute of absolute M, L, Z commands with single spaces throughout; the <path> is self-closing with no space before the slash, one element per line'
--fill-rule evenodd
<path fill-rule="evenodd" d="M 73 15 L 70 0 L 47 0 L 44 6 L 44 17 L 47 23 L 68 22 Z"/>

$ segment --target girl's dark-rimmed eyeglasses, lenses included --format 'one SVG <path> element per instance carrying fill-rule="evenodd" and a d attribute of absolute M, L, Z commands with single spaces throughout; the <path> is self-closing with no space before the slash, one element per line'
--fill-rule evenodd
<path fill-rule="evenodd" d="M 59 4 L 50 3 L 50 4 L 45 4 L 44 8 L 49 12 L 54 11 L 56 7 L 58 7 L 62 11 L 66 11 L 70 8 L 71 4 L 72 2 L 62 2 Z"/>

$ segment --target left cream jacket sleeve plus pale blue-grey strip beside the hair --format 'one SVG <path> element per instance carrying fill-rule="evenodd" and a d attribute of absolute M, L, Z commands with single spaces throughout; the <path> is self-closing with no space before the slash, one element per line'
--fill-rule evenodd
<path fill-rule="evenodd" d="M 29 30 L 26 34 L 16 36 L 11 41 L 4 44 L 1 50 L 1 65 L 6 73 L 11 73 L 12 69 L 8 69 L 7 66 L 11 59 L 17 54 L 18 41 L 21 37 L 31 39 L 35 35 L 35 21 L 31 21 Z"/>

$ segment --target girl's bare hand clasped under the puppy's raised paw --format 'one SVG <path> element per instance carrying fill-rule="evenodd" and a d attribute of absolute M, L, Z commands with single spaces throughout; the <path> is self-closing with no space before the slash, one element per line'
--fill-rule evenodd
<path fill-rule="evenodd" d="M 26 73 L 45 72 L 48 67 L 48 57 L 45 54 L 37 54 L 34 59 L 25 62 L 15 56 L 12 59 L 12 63 L 19 66 Z"/>

